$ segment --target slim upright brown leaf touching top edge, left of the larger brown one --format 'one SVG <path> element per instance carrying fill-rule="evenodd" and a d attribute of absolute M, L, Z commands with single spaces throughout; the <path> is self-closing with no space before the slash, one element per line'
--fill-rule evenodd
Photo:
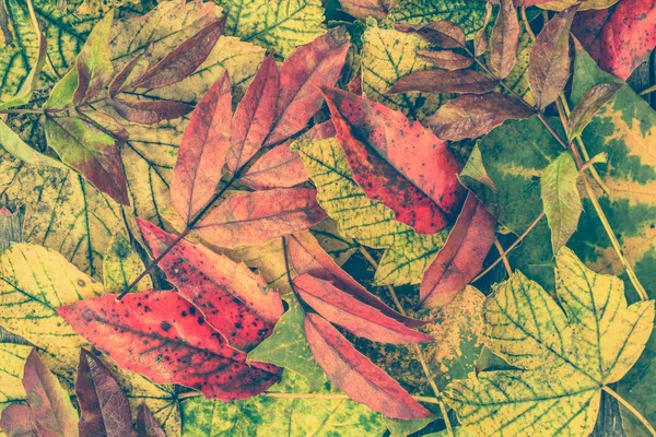
<path fill-rule="evenodd" d="M 513 0 L 501 0 L 501 9 L 490 37 L 490 66 L 499 79 L 504 79 L 515 67 L 519 45 L 519 21 Z"/>

